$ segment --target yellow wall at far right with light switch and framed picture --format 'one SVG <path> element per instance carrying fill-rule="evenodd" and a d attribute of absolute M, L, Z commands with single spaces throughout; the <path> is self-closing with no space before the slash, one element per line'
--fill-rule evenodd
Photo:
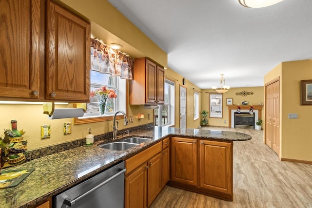
<path fill-rule="evenodd" d="M 301 105 L 300 80 L 312 79 L 312 59 L 282 63 L 281 157 L 312 161 L 312 106 Z M 298 119 L 288 119 L 288 113 L 298 113 Z"/>

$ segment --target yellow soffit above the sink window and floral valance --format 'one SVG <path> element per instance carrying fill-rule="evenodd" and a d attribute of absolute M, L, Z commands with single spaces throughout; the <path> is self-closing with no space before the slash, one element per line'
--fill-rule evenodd
<path fill-rule="evenodd" d="M 60 0 L 91 22 L 91 33 L 103 43 L 119 43 L 131 57 L 150 57 L 167 67 L 167 54 L 107 0 Z"/>

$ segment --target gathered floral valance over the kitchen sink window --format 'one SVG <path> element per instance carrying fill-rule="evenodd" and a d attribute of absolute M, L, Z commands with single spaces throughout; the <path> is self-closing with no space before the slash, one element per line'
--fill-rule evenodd
<path fill-rule="evenodd" d="M 91 38 L 91 70 L 120 76 L 124 79 L 133 79 L 133 62 L 134 58 Z"/>

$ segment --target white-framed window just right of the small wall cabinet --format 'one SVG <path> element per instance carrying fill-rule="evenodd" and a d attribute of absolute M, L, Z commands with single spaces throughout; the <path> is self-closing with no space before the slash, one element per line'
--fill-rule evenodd
<path fill-rule="evenodd" d="M 165 79 L 165 103 L 154 111 L 155 126 L 175 125 L 175 83 Z"/>

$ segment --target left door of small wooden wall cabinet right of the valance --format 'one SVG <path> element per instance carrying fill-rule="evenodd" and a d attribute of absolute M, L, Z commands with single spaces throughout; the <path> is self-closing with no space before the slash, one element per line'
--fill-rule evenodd
<path fill-rule="evenodd" d="M 157 66 L 152 61 L 146 59 L 146 102 L 157 103 L 156 97 L 156 70 Z"/>

